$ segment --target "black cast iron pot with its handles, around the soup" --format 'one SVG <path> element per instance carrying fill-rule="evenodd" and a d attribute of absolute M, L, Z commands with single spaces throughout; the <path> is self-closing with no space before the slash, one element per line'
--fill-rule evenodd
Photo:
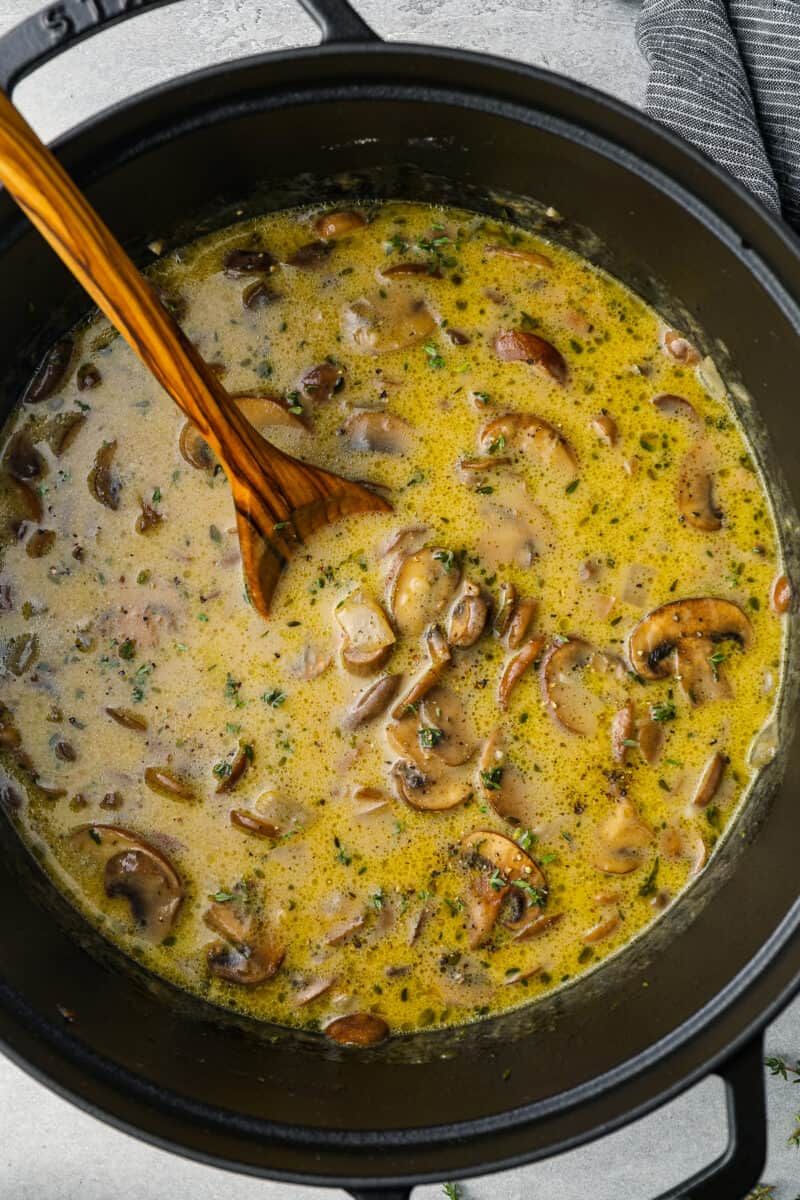
<path fill-rule="evenodd" d="M 52 5 L 0 41 L 0 84 L 12 91 L 67 46 L 163 2 Z M 687 145 L 588 88 L 485 55 L 385 44 L 345 0 L 303 2 L 321 46 L 203 71 L 61 139 L 64 163 L 132 252 L 222 223 L 236 202 L 278 206 L 303 188 L 317 200 L 435 194 L 545 221 L 704 337 L 741 384 L 793 569 L 800 252 L 789 230 Z M 548 224 L 525 197 L 566 220 Z M 85 308 L 0 194 L 5 410 L 48 340 Z M 716 1072 L 728 1150 L 668 1196 L 741 1196 L 764 1160 L 760 1031 L 800 970 L 792 713 L 787 702 L 782 752 L 759 794 L 651 935 L 529 1009 L 371 1051 L 228 1018 L 132 971 L 76 919 L 10 816 L 0 1037 L 50 1087 L 160 1146 L 384 1200 L 554 1154 Z"/>

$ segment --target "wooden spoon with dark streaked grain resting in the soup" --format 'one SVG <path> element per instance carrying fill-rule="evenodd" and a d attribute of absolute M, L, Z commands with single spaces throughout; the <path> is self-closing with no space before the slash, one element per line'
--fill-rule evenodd
<path fill-rule="evenodd" d="M 270 616 L 293 548 L 351 512 L 391 505 L 361 484 L 271 445 L 240 413 L 50 151 L 0 92 L 0 181 L 103 310 L 225 469 L 249 598 Z"/>

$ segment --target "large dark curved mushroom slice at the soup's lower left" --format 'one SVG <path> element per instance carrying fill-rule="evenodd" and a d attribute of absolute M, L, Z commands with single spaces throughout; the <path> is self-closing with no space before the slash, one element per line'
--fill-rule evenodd
<path fill-rule="evenodd" d="M 80 854 L 103 864 L 106 894 L 128 901 L 145 937 L 167 937 L 178 918 L 184 886 L 160 850 L 130 829 L 104 824 L 80 826 L 70 842 Z"/>

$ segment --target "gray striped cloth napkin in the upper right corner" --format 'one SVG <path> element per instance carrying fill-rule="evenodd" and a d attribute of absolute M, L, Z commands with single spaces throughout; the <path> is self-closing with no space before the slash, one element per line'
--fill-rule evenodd
<path fill-rule="evenodd" d="M 644 0 L 645 107 L 800 232 L 800 0 Z"/>

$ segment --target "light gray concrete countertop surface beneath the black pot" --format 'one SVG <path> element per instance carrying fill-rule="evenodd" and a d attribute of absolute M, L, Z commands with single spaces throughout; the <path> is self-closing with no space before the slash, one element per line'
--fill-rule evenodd
<path fill-rule="evenodd" d="M 0 32 L 44 0 L 0 0 Z M 488 50 L 563 72 L 640 104 L 645 67 L 637 0 L 356 0 L 384 37 Z M 293 0 L 184 0 L 142 13 L 26 79 L 16 102 L 46 138 L 124 96 L 258 50 L 309 43 Z M 768 1052 L 800 1054 L 800 1002 L 769 1030 Z M 787 1146 L 800 1088 L 769 1082 L 776 1200 L 796 1200 L 800 1150 Z M 154 1150 L 72 1108 L 0 1058 L 0 1200 L 312 1200 L 333 1196 L 200 1166 Z M 462 1184 L 464 1200 L 651 1200 L 724 1146 L 722 1085 L 709 1079 L 655 1115 L 591 1146 Z M 341 1195 L 341 1193 L 336 1193 Z M 440 1187 L 415 1192 L 434 1200 Z M 739 1198 L 730 1198 L 739 1200 Z"/>

